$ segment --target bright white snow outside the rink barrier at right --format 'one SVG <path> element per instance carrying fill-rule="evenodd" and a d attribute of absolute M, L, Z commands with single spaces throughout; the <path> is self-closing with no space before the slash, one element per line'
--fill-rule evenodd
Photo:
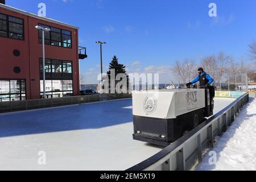
<path fill-rule="evenodd" d="M 205 155 L 197 170 L 256 170 L 256 99 L 250 98 L 232 126 L 219 138 L 213 150 L 217 153 L 217 163 L 212 155 Z"/>

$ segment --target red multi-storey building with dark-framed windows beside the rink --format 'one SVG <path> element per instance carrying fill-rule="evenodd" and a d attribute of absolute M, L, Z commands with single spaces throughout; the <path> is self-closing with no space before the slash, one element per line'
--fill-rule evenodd
<path fill-rule="evenodd" d="M 45 35 L 47 97 L 80 93 L 79 28 L 0 3 L 0 102 L 42 98 L 42 32 Z"/>

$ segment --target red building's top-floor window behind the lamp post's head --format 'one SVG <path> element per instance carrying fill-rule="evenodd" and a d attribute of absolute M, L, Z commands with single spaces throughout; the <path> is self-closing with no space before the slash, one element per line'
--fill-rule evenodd
<path fill-rule="evenodd" d="M 44 32 L 44 43 L 51 46 L 72 48 L 71 31 L 62 30 L 60 28 L 38 24 L 44 28 L 50 28 L 51 31 Z M 42 30 L 39 30 L 39 43 L 42 43 Z"/>

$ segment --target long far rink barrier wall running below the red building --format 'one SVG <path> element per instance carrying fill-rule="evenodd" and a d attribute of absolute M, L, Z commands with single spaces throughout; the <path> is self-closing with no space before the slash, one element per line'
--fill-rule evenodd
<path fill-rule="evenodd" d="M 75 96 L 75 97 L 60 97 L 60 98 L 46 98 L 39 100 L 24 100 L 24 101 L 10 101 L 0 103 L 0 113 L 7 113 L 12 111 L 42 109 L 47 107 L 85 104 L 98 101 L 118 100 L 122 98 L 131 98 L 131 94 L 98 94 L 92 96 Z"/>

